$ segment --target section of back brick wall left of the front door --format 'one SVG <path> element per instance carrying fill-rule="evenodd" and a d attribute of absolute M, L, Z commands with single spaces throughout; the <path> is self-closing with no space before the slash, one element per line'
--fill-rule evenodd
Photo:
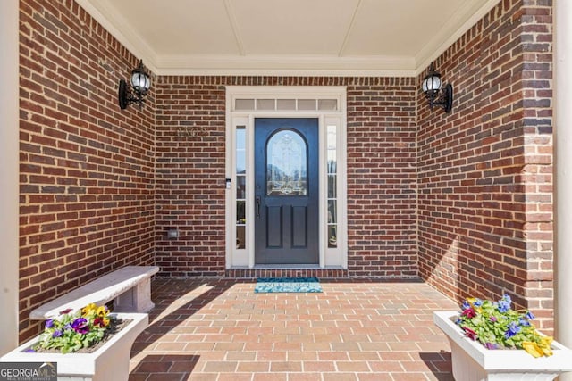
<path fill-rule="evenodd" d="M 156 264 L 163 276 L 223 276 L 224 87 L 213 79 L 161 78 L 156 88 Z M 205 128 L 201 137 L 181 128 Z M 179 238 L 167 239 L 177 228 Z"/>

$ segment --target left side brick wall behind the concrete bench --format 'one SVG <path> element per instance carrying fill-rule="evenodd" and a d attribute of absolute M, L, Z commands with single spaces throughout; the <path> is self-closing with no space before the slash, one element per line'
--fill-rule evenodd
<path fill-rule="evenodd" d="M 72 1 L 22 0 L 20 322 L 93 277 L 154 262 L 151 99 L 120 111 L 136 58 Z M 151 96 L 153 98 L 153 96 Z"/>

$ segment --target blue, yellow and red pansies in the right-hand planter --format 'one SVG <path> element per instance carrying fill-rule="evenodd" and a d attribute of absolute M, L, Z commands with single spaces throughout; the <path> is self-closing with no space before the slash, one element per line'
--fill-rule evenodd
<path fill-rule="evenodd" d="M 468 298 L 456 323 L 472 340 L 488 349 L 524 349 L 534 357 L 551 356 L 552 337 L 541 335 L 531 311 L 515 311 L 510 296 L 499 302 Z"/>

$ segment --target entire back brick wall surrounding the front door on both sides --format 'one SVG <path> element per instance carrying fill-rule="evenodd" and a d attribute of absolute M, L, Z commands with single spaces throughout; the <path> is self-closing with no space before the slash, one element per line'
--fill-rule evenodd
<path fill-rule="evenodd" d="M 224 274 L 225 86 L 348 87 L 349 276 L 415 277 L 415 79 L 162 77 L 156 87 L 156 261 Z M 179 137 L 180 128 L 203 137 Z M 179 239 L 167 239 L 177 228 Z"/>

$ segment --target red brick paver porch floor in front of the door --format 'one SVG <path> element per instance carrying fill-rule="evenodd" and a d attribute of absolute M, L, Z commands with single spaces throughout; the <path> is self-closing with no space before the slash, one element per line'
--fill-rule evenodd
<path fill-rule="evenodd" d="M 432 312 L 454 302 L 423 283 L 321 283 L 321 294 L 255 294 L 248 281 L 155 279 L 130 381 L 452 379 Z"/>

